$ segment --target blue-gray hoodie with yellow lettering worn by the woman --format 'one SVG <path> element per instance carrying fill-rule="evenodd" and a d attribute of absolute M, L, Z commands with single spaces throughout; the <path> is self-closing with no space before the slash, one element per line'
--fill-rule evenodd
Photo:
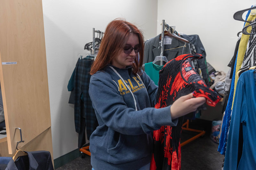
<path fill-rule="evenodd" d="M 99 122 L 90 137 L 91 164 L 95 170 L 139 169 L 151 160 L 153 130 L 176 126 L 177 119 L 172 121 L 170 106 L 154 108 L 157 86 L 145 72 L 139 76 L 131 67 L 112 66 L 120 78 L 109 66 L 90 80 L 89 94 Z"/>

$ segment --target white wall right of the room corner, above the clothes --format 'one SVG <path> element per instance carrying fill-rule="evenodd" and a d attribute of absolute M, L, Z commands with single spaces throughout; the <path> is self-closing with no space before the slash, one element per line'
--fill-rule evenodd
<path fill-rule="evenodd" d="M 157 33 L 164 19 L 178 32 L 198 34 L 206 51 L 206 60 L 215 70 L 227 72 L 244 22 L 233 19 L 236 11 L 250 8 L 254 0 L 158 0 Z"/>

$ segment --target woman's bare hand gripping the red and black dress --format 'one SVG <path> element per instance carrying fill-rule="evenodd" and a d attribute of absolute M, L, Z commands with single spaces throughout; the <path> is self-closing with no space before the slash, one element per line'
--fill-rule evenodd
<path fill-rule="evenodd" d="M 206 99 L 204 97 L 193 98 L 193 93 L 181 96 L 175 100 L 171 106 L 171 117 L 176 119 L 180 116 L 187 115 L 190 112 L 195 112 L 197 107 L 204 104 Z"/>

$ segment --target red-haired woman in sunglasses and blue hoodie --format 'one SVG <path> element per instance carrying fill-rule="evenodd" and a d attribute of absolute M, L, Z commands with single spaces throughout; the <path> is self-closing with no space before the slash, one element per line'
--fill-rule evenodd
<path fill-rule="evenodd" d="M 156 109 L 157 86 L 141 70 L 144 40 L 133 24 L 111 21 L 91 68 L 89 94 L 99 126 L 90 137 L 91 164 L 98 169 L 149 169 L 153 130 L 176 126 L 204 97 L 188 94 Z"/>

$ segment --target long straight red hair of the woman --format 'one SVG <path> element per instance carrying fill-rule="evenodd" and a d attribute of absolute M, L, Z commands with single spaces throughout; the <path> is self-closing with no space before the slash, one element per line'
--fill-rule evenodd
<path fill-rule="evenodd" d="M 92 64 L 90 74 L 95 74 L 97 71 L 103 70 L 106 65 L 110 64 L 112 59 L 119 55 L 120 50 L 124 48 L 131 34 L 138 35 L 139 45 L 141 47 L 132 63 L 133 74 L 137 74 L 141 70 L 143 63 L 143 33 L 135 25 L 122 19 L 115 19 L 108 24 L 100 43 L 98 55 Z"/>

